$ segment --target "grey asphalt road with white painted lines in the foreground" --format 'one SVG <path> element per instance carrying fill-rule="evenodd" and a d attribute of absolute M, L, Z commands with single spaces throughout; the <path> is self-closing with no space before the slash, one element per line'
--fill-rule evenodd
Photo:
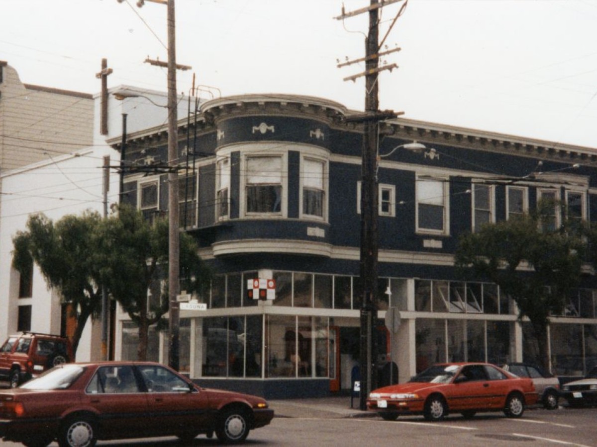
<path fill-rule="evenodd" d="M 2 446 L 13 446 L 3 443 Z M 53 443 L 52 446 L 56 446 Z M 174 438 L 99 442 L 118 447 L 181 446 Z M 216 446 L 217 439 L 197 437 L 187 446 Z M 274 418 L 272 424 L 249 434 L 248 446 L 597 446 L 597 408 L 546 411 L 531 409 L 521 419 L 501 413 L 481 414 L 472 420 L 460 415 L 440 423 L 421 417 L 397 421 L 369 418 Z"/>

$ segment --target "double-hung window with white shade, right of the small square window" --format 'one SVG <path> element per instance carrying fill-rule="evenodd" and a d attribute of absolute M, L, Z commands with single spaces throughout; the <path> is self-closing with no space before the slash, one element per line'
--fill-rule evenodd
<path fill-rule="evenodd" d="M 448 234 L 448 182 L 417 179 L 417 231 Z"/>

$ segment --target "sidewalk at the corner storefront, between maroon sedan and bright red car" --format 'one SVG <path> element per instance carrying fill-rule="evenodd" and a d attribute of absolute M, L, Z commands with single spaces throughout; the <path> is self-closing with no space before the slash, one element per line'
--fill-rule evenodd
<path fill-rule="evenodd" d="M 350 396 L 331 396 L 310 399 L 268 399 L 275 417 L 279 418 L 362 418 L 376 417 L 375 411 L 361 411 L 359 399 L 353 399 L 350 408 Z"/>

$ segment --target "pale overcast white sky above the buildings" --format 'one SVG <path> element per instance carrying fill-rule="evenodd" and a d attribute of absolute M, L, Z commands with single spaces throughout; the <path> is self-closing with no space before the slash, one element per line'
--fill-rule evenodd
<path fill-rule="evenodd" d="M 391 30 L 389 26 L 407 2 Z M 283 93 L 362 111 L 369 0 L 176 0 L 177 90 Z M 442 125 L 597 150 L 597 0 L 402 0 L 380 39 L 401 51 L 378 78 L 380 108 Z M 21 82 L 97 93 L 101 59 L 121 84 L 165 91 L 167 7 L 136 0 L 0 0 L 0 60 Z"/>

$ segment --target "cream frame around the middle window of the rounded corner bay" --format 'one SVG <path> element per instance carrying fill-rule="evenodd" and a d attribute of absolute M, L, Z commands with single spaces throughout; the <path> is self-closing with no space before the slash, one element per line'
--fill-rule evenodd
<path fill-rule="evenodd" d="M 272 145 L 272 147 L 279 147 L 279 145 Z M 247 187 L 250 185 L 247 182 L 248 179 L 248 159 L 256 157 L 279 157 L 281 159 L 281 172 L 280 172 L 280 211 L 279 212 L 247 212 Z M 241 218 L 251 219 L 277 219 L 286 218 L 288 216 L 288 155 L 287 152 L 281 151 L 257 151 L 256 148 L 251 148 L 247 153 L 241 156 L 241 190 L 239 191 L 239 199 L 241 207 L 239 210 Z"/>

